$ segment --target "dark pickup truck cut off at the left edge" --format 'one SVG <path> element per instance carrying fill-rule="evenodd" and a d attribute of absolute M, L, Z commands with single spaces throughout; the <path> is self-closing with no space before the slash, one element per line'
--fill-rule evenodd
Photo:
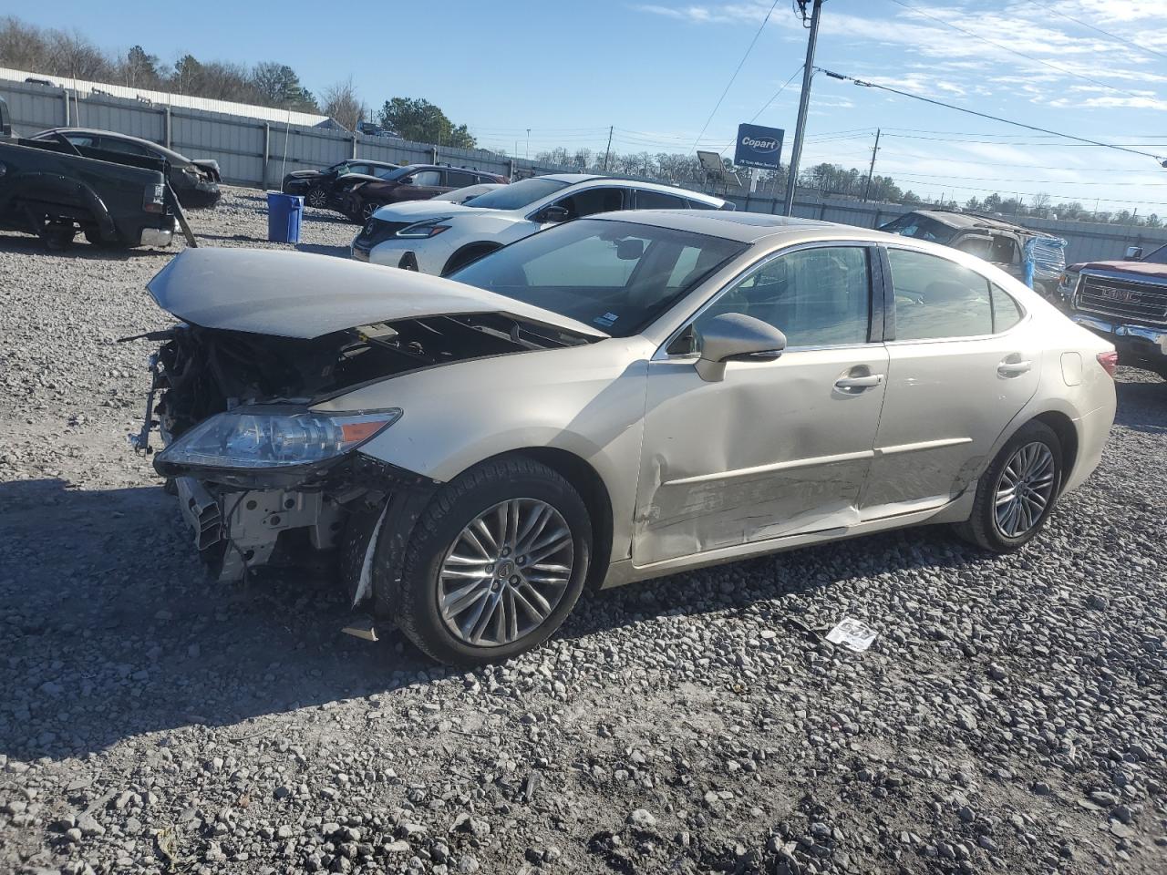
<path fill-rule="evenodd" d="M 186 217 L 165 162 L 126 164 L 124 156 L 102 155 L 67 140 L 14 138 L 0 99 L 0 228 L 36 235 L 50 249 L 68 246 L 78 232 L 100 246 L 168 246 Z"/>

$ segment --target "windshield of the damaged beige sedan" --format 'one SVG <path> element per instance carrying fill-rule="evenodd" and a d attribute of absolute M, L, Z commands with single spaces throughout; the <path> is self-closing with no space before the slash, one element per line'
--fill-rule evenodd
<path fill-rule="evenodd" d="M 628 337 L 745 249 L 669 228 L 576 219 L 485 256 L 452 279 Z"/>

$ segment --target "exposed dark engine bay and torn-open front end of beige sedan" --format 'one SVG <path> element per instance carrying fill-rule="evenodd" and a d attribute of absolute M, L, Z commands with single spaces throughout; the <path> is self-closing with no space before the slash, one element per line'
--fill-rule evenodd
<path fill-rule="evenodd" d="M 167 444 L 229 411 L 307 408 L 422 368 L 587 342 L 495 313 L 378 322 L 314 338 L 194 324 L 149 337 L 163 341 L 154 386 L 156 424 Z M 214 578 L 240 580 L 263 566 L 301 567 L 338 551 L 355 601 L 368 595 L 370 537 L 386 504 L 396 501 L 399 522 L 408 523 L 410 509 L 433 485 L 356 453 L 295 470 L 182 470 L 162 457 L 155 468 L 179 496 Z"/>

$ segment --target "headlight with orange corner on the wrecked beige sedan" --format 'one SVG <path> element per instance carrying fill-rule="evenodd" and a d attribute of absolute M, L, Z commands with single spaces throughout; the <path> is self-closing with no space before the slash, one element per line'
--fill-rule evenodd
<path fill-rule="evenodd" d="M 162 450 L 158 461 L 240 469 L 313 464 L 356 449 L 400 418 L 399 407 L 331 416 L 239 408 L 200 422 Z"/>

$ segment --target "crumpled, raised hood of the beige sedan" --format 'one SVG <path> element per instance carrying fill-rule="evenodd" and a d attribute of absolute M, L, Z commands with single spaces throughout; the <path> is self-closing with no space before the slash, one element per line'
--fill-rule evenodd
<path fill-rule="evenodd" d="M 608 336 L 463 282 L 308 252 L 188 249 L 147 288 L 159 307 L 184 322 L 278 337 L 313 338 L 375 322 L 470 313 Z"/>

